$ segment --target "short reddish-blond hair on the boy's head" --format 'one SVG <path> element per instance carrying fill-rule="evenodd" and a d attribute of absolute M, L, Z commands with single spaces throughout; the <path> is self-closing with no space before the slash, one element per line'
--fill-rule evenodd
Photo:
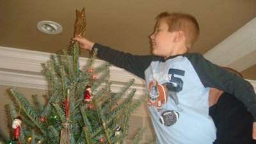
<path fill-rule="evenodd" d="M 180 12 L 162 12 L 156 19 L 166 19 L 170 32 L 183 31 L 188 49 L 195 45 L 199 36 L 199 25 L 195 17 Z"/>

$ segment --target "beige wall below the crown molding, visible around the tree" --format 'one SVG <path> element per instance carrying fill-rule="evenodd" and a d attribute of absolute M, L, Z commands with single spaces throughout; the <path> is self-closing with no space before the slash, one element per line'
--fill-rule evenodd
<path fill-rule="evenodd" d="M 11 88 L 11 86 L 3 86 L 0 85 L 0 129 L 3 130 L 4 134 L 10 135 L 10 128 L 8 128 L 8 118 L 6 115 L 6 105 L 10 104 L 12 100 L 10 99 L 10 95 L 7 90 Z M 46 90 L 37 90 L 31 88 L 18 88 L 19 92 L 22 93 L 28 100 L 31 102 L 32 95 L 42 96 L 47 94 Z M 144 140 L 149 140 L 150 138 L 155 138 L 154 129 L 152 127 L 152 123 L 150 118 L 148 117 L 148 108 L 147 103 L 144 103 L 140 106 L 140 108 L 136 109 L 136 111 L 132 114 L 130 122 L 129 122 L 129 136 L 128 139 L 132 140 L 136 131 L 141 127 L 146 127 L 146 132 L 144 134 Z"/>

